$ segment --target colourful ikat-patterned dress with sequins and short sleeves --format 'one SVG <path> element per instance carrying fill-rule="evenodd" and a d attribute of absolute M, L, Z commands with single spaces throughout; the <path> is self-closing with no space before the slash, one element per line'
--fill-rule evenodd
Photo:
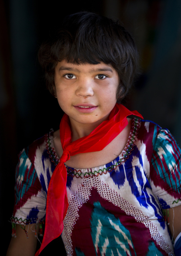
<path fill-rule="evenodd" d="M 174 255 L 162 209 L 181 204 L 181 150 L 168 130 L 133 119 L 126 148 L 111 163 L 67 168 L 67 255 Z M 45 218 L 58 163 L 53 131 L 20 153 L 13 222 Z M 26 221 L 25 221 L 26 220 Z"/>

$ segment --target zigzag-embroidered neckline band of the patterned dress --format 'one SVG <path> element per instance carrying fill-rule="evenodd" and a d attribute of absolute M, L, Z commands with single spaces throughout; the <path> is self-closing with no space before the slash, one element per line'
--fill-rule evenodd
<path fill-rule="evenodd" d="M 116 163 L 113 163 L 113 162 L 115 162 L 115 160 L 113 160 L 112 162 L 103 165 L 102 168 L 98 167 L 100 169 L 98 169 L 96 167 L 90 168 L 90 171 L 82 171 L 85 169 L 74 169 L 74 168 L 66 166 L 67 175 L 68 176 L 71 175 L 72 177 L 76 176 L 76 178 L 83 178 L 83 177 L 88 178 L 88 177 L 98 176 L 98 175 L 102 175 L 103 173 L 104 174 L 106 174 L 107 172 L 110 173 L 112 170 L 115 170 L 118 166 L 120 166 L 121 163 L 126 162 L 126 159 L 129 158 L 129 155 L 131 154 L 132 150 L 134 149 L 133 147 L 135 146 L 136 138 L 138 135 L 138 130 L 140 128 L 139 121 L 140 121 L 139 118 L 132 119 L 128 142 L 126 143 L 126 147 L 124 148 L 124 150 L 118 156 L 119 161 L 117 161 Z M 53 130 L 51 130 L 49 133 L 47 133 L 45 135 L 45 140 L 46 140 L 47 153 L 49 154 L 51 162 L 53 162 L 56 166 L 59 162 L 59 158 L 56 154 L 55 148 L 53 147 L 52 139 L 53 139 Z M 109 165 L 109 166 L 105 167 L 106 165 Z M 93 171 L 92 169 L 96 169 L 96 170 Z M 87 169 L 87 170 L 89 170 L 89 169 Z"/>

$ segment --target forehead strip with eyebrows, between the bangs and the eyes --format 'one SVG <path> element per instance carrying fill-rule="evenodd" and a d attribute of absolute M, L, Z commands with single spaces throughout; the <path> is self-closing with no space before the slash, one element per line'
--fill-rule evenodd
<path fill-rule="evenodd" d="M 100 62 L 99 64 L 90 64 L 90 63 L 71 63 L 65 60 L 58 62 L 56 66 L 56 72 L 63 71 L 74 71 L 77 73 L 94 73 L 94 72 L 108 72 L 112 74 L 118 74 L 117 71 L 110 64 L 105 64 Z"/>

